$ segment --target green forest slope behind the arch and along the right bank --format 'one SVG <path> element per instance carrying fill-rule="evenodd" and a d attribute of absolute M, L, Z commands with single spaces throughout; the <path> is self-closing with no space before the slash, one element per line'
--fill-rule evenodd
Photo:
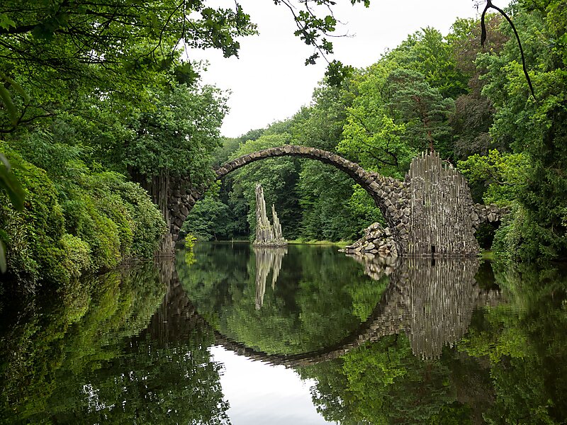
<path fill-rule="evenodd" d="M 292 143 L 403 179 L 412 157 L 434 149 L 465 174 L 476 202 L 511 207 L 498 230 L 487 225 L 477 232 L 481 246 L 515 261 L 565 259 L 567 2 L 517 0 L 506 11 L 520 33 L 535 98 L 509 23 L 489 14 L 482 47 L 481 23 L 458 19 L 447 36 L 433 28 L 409 35 L 340 86 L 325 79 L 310 106 L 292 118 L 225 140 L 218 163 Z M 290 239 L 356 239 L 381 220 L 340 171 L 305 159 L 268 159 L 227 176 L 196 205 L 186 230 L 208 239 L 246 238 L 254 225 L 253 181 L 262 183 L 266 203 L 276 204 Z"/>

